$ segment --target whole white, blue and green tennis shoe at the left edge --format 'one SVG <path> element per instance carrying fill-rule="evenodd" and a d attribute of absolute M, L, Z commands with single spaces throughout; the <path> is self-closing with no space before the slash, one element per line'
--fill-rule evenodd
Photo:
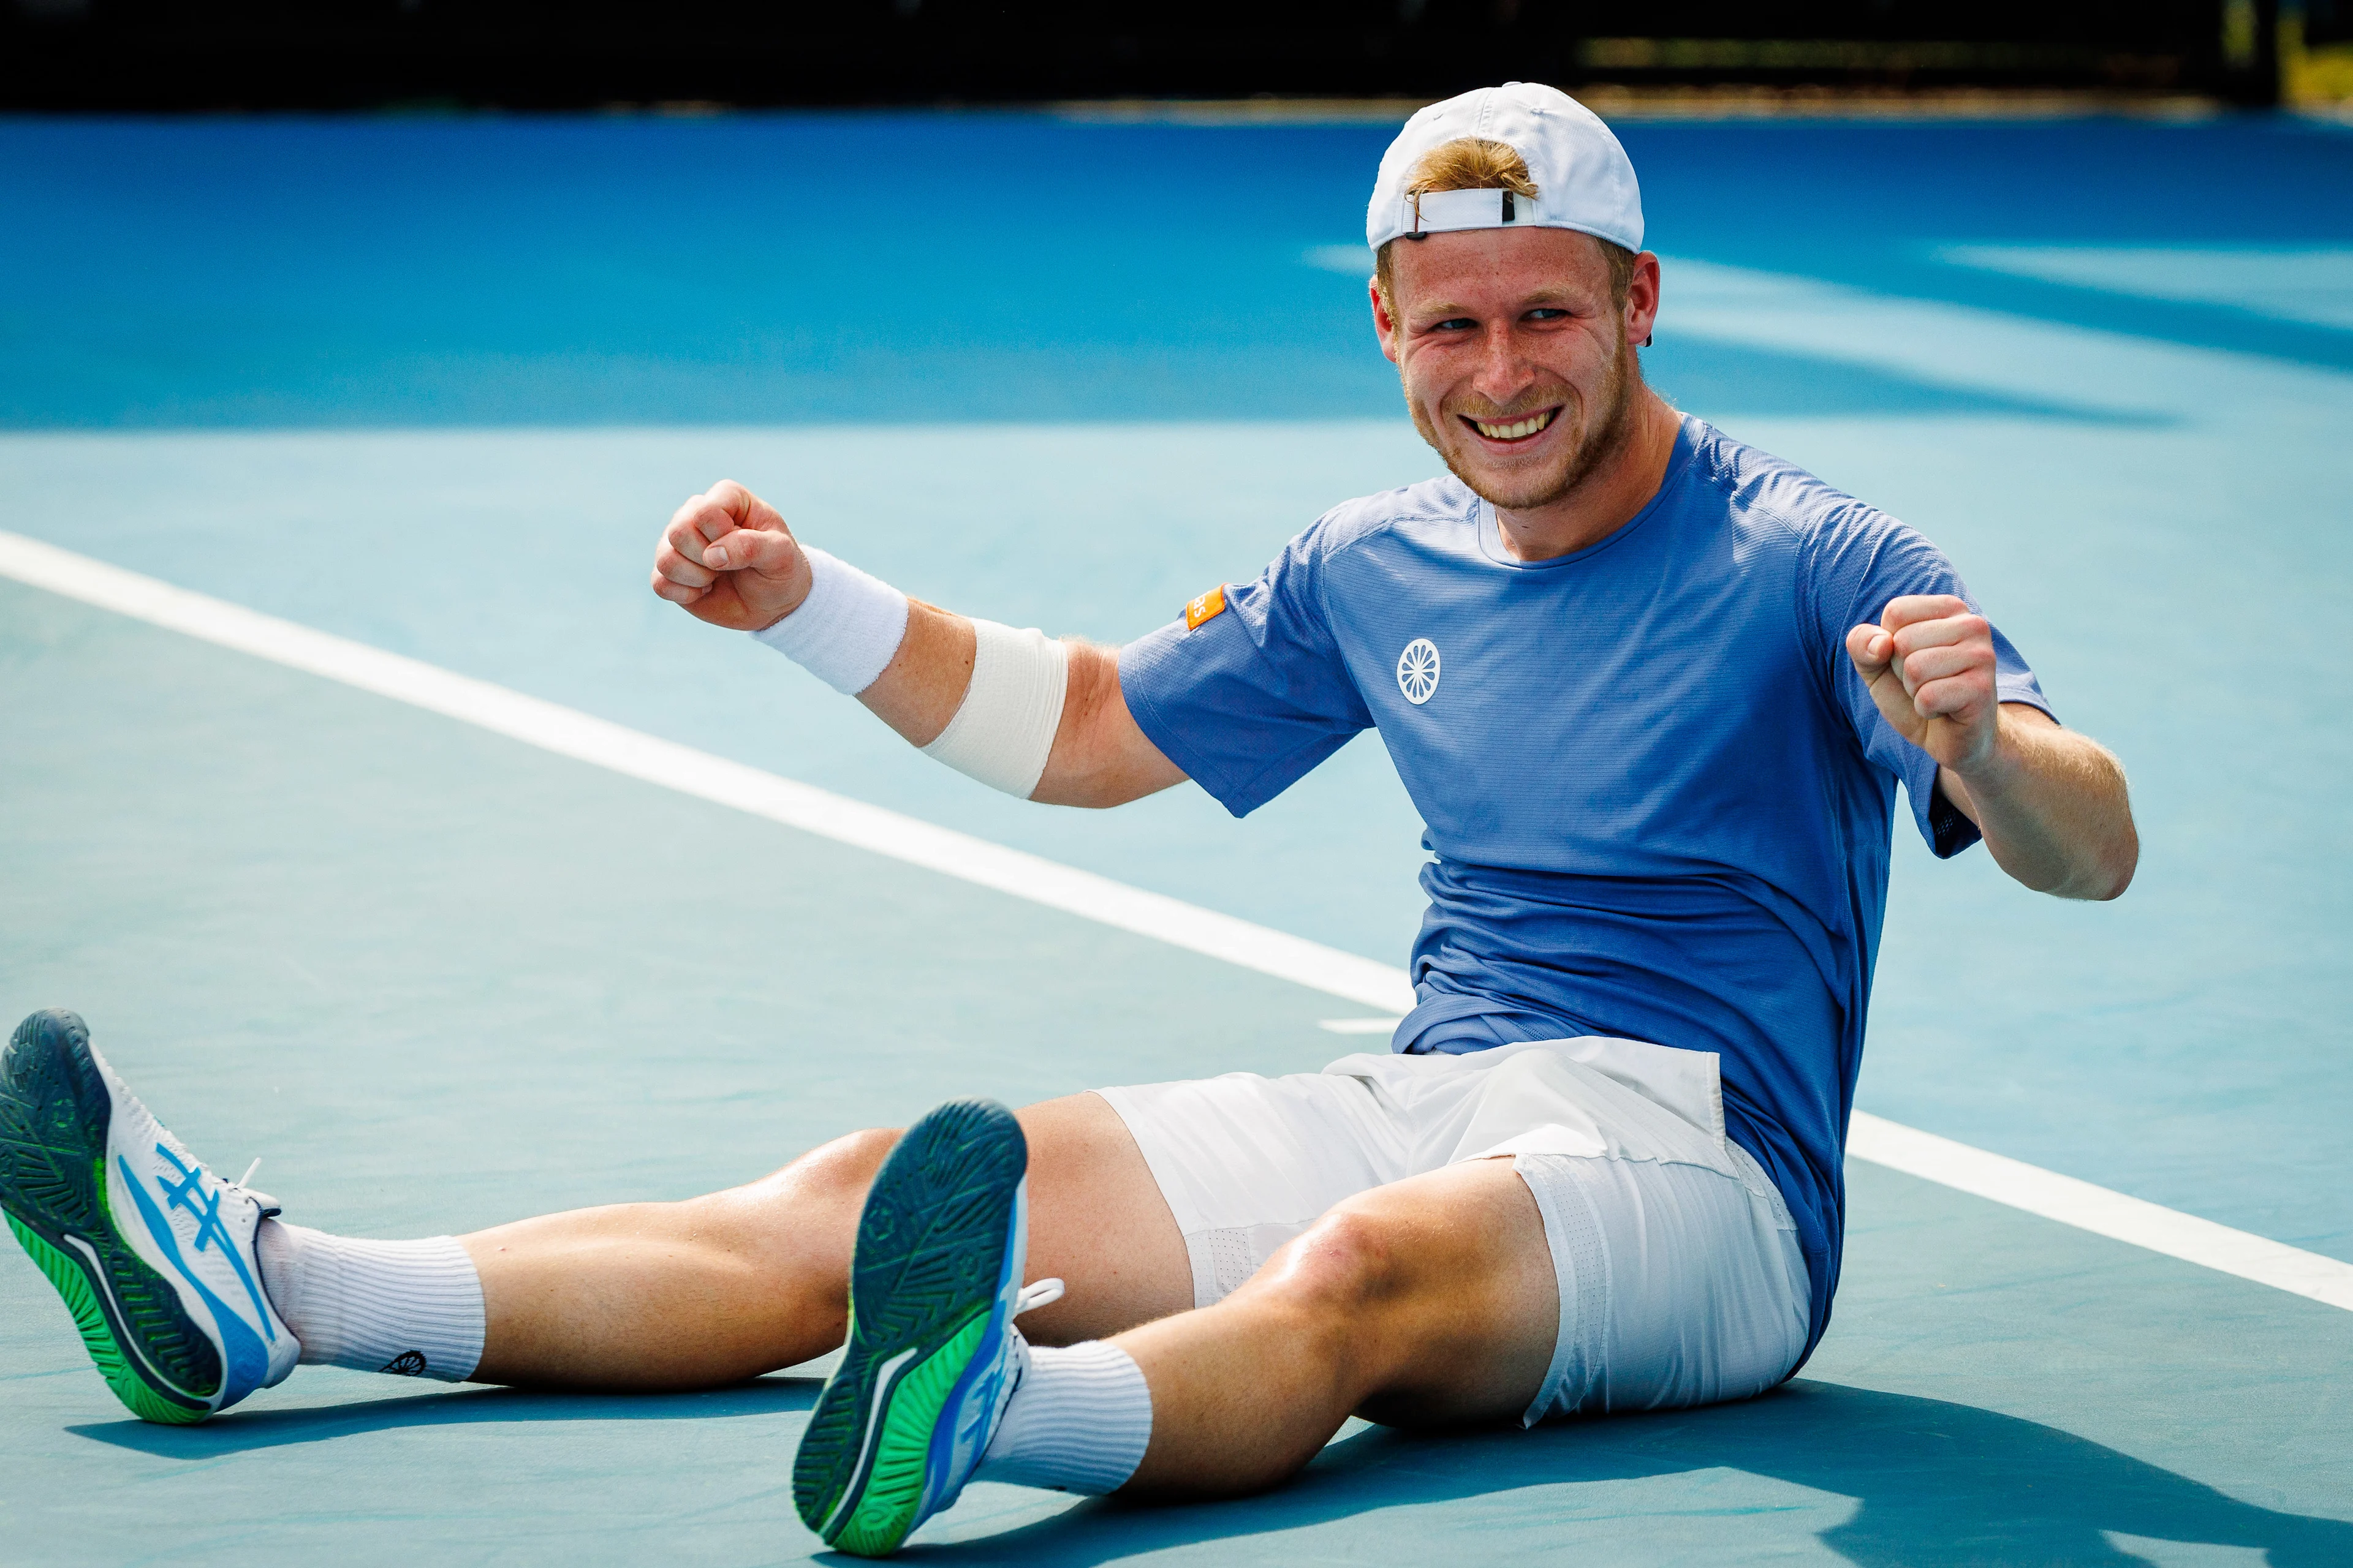
<path fill-rule="evenodd" d="M 294 1371 L 254 1255 L 278 1204 L 167 1133 L 75 1013 L 0 1051 L 0 1211 L 132 1415 L 200 1422 Z"/>

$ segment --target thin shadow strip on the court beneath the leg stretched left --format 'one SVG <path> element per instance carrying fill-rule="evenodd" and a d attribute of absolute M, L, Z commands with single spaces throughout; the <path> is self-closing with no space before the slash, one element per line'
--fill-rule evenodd
<path fill-rule="evenodd" d="M 200 1427 L 155 1427 L 144 1420 L 111 1420 L 68 1427 L 115 1448 L 136 1448 L 165 1460 L 219 1460 L 256 1448 L 322 1443 L 393 1427 L 452 1427 L 480 1422 L 544 1420 L 711 1420 L 732 1415 L 788 1415 L 816 1403 L 821 1378 L 760 1378 L 706 1394 L 536 1394 L 527 1389 L 464 1389 L 365 1399 L 301 1410 L 238 1410 Z"/>

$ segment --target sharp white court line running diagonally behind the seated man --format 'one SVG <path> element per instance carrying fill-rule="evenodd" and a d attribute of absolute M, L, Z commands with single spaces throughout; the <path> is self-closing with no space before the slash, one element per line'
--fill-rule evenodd
<path fill-rule="evenodd" d="M 854 844 L 894 860 L 976 882 L 1014 898 L 1082 914 L 1120 931 L 1158 938 L 1174 947 L 1224 959 L 1360 1006 L 1405 1013 L 1414 1006 L 1402 969 L 1353 952 L 1325 947 L 1247 919 L 1219 914 L 1162 893 L 1146 893 L 1094 872 L 1042 856 L 1005 849 L 951 827 L 936 827 L 882 806 L 779 778 L 741 762 L 713 757 L 689 745 L 544 703 L 506 686 L 452 675 L 438 665 L 386 654 L 346 637 L 315 632 L 292 621 L 264 616 L 186 588 L 172 588 L 0 531 L 0 576 L 47 588 L 68 599 L 96 604 L 205 642 L 238 649 L 271 663 L 322 675 L 346 686 L 412 703 L 499 736 L 536 745 L 560 757 L 591 762 L 614 773 L 734 806 L 786 827 Z M 1388 1020 L 1327 1020 L 1388 1027 Z M 1951 1138 L 1854 1112 L 1847 1152 L 1880 1166 L 1958 1187 L 1995 1204 L 2129 1241 L 2167 1258 L 2198 1262 L 2224 1274 L 2308 1295 L 2353 1312 L 2353 1262 L 2306 1253 L 2266 1237 L 2125 1197 L 2092 1182 L 1988 1154 Z"/>

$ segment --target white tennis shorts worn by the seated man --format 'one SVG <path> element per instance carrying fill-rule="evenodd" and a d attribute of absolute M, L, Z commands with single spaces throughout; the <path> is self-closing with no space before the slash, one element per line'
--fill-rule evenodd
<path fill-rule="evenodd" d="M 1346 1197 L 1508 1154 L 1560 1281 L 1560 1338 L 1522 1425 L 1746 1399 L 1805 1349 L 1798 1232 L 1725 1138 L 1713 1051 L 1546 1039 L 1099 1093 L 1176 1215 L 1195 1307 Z"/>

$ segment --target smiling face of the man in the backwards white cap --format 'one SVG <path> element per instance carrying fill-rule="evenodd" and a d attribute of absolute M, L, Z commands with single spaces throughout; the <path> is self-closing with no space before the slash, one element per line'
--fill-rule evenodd
<path fill-rule="evenodd" d="M 1591 235 L 1468 228 L 1391 242 L 1388 275 L 1388 299 L 1372 296 L 1381 353 L 1421 440 L 1475 494 L 1541 510 L 1628 451 L 1657 259 L 1619 299 Z"/>

